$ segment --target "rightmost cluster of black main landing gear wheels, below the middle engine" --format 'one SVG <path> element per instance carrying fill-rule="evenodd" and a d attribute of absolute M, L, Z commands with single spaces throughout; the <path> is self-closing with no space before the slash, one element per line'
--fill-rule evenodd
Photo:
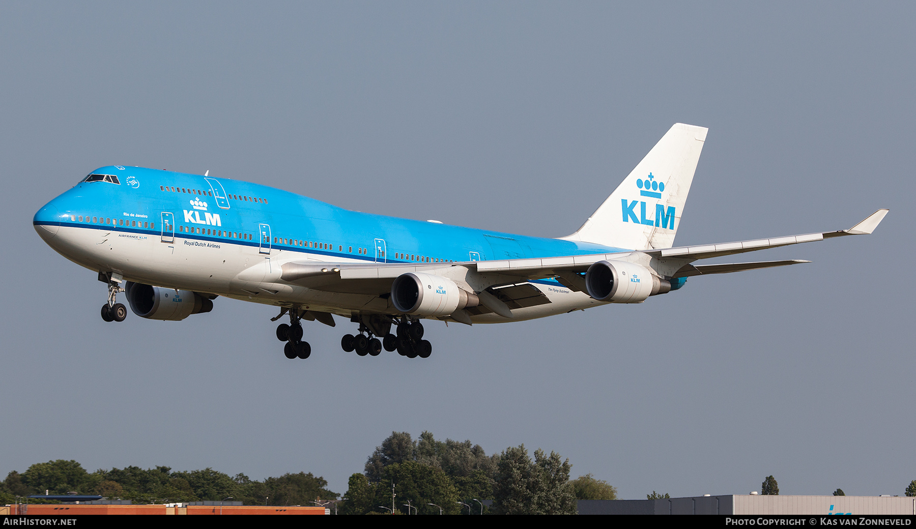
<path fill-rule="evenodd" d="M 384 348 L 385 351 L 398 351 L 398 354 L 408 358 L 429 358 L 432 344 L 429 340 L 423 340 L 423 324 L 419 320 L 410 322 L 407 318 L 400 318 L 398 335 L 395 336 L 389 332 L 392 321 L 380 325 L 379 322 L 366 322 L 362 319 L 357 319 L 360 321 L 359 334 L 346 334 L 341 339 L 341 349 L 344 351 L 356 351 L 360 356 L 378 356 Z M 384 338 L 378 340 L 374 337 L 376 334 Z"/>

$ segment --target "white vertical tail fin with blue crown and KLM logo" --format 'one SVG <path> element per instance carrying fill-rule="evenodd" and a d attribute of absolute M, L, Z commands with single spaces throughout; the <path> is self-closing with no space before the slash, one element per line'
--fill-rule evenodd
<path fill-rule="evenodd" d="M 670 248 L 709 129 L 674 124 L 567 241 L 627 250 Z"/>

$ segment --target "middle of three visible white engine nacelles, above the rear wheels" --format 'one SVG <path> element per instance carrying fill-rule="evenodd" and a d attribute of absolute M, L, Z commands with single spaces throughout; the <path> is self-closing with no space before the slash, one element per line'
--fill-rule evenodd
<path fill-rule="evenodd" d="M 456 310 L 480 305 L 473 292 L 457 286 L 453 280 L 422 272 L 398 275 L 391 284 L 391 302 L 398 312 L 418 316 L 448 316 Z"/>

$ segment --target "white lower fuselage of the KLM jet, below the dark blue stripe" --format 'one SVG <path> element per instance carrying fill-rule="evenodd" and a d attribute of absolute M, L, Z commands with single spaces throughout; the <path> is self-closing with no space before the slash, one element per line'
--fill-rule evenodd
<path fill-rule="evenodd" d="M 44 236 L 43 236 L 44 237 Z M 349 316 L 354 310 L 392 313 L 385 299 L 369 294 L 342 294 L 280 280 L 289 262 L 365 263 L 339 255 L 258 248 L 235 239 L 209 240 L 61 226 L 47 242 L 58 253 L 93 271 L 115 272 L 125 280 L 147 285 L 216 294 L 268 305 L 299 304 L 303 308 Z M 544 318 L 576 309 L 604 305 L 583 292 L 560 285 L 533 283 L 551 303 L 512 310 L 513 318 L 474 316 L 474 323 L 505 323 Z"/>

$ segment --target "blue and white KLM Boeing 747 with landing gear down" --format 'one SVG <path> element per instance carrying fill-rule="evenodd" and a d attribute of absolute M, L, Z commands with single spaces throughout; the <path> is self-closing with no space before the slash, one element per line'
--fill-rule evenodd
<path fill-rule="evenodd" d="M 577 232 L 559 239 L 372 215 L 208 174 L 94 170 L 35 214 L 54 250 L 98 272 L 105 321 L 184 319 L 217 297 L 274 305 L 277 337 L 308 358 L 301 321 L 358 325 L 344 351 L 430 356 L 422 319 L 503 323 L 609 303 L 642 303 L 692 275 L 807 261 L 693 264 L 871 233 L 888 210 L 848 230 L 673 247 L 707 129 L 671 127 Z M 379 340 L 379 338 L 381 340 Z"/>

